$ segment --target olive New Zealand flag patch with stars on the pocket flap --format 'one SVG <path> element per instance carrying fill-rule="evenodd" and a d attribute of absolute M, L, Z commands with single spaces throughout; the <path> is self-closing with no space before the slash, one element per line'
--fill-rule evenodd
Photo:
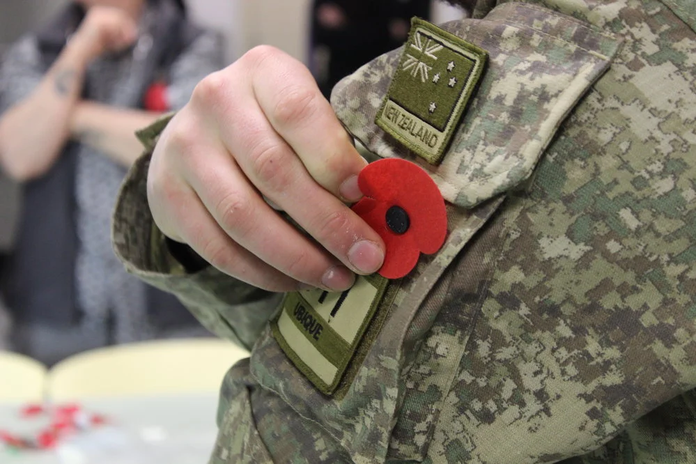
<path fill-rule="evenodd" d="M 414 17 L 375 123 L 431 164 L 442 161 L 488 54 Z"/>

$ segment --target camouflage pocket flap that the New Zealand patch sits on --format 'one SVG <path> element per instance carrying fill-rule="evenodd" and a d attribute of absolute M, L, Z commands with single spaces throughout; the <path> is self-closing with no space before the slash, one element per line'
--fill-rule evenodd
<path fill-rule="evenodd" d="M 444 199 L 472 208 L 532 174 L 557 127 L 608 69 L 619 44 L 572 17 L 523 3 L 505 3 L 484 20 L 442 29 L 488 52 L 488 64 L 439 166 L 374 124 L 403 49 L 343 79 L 332 105 L 369 151 L 417 162 Z"/>

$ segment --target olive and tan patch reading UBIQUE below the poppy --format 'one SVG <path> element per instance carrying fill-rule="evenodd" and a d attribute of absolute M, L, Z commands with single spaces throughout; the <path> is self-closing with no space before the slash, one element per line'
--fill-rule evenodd
<path fill-rule="evenodd" d="M 388 309 L 388 304 L 380 304 L 388 303 L 382 302 L 388 284 L 388 279 L 373 274 L 358 276 L 342 293 L 313 289 L 286 295 L 271 322 L 273 335 L 323 394 L 336 391 L 365 332 L 374 333 L 373 323 L 382 324 L 384 318 L 375 315 L 378 309 Z"/>

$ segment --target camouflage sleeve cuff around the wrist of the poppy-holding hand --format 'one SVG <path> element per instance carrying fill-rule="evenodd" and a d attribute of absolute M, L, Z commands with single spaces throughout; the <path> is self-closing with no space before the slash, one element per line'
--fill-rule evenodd
<path fill-rule="evenodd" d="M 281 295 L 262 291 L 208 266 L 185 270 L 167 248 L 147 201 L 147 172 L 157 137 L 171 115 L 139 132 L 146 148 L 127 174 L 116 201 L 112 241 L 128 272 L 176 295 L 201 323 L 219 337 L 249 349 L 275 311 Z"/>

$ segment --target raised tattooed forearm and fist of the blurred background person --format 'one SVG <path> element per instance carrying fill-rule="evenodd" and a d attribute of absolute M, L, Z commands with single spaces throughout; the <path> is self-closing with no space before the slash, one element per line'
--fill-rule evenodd
<path fill-rule="evenodd" d="M 33 92 L 14 101 L 10 98 L 10 105 L 3 102 L 8 111 L 0 118 L 0 163 L 10 176 L 17 180 L 36 178 L 52 166 L 70 136 L 72 111 L 82 91 L 88 63 L 104 52 L 125 49 L 136 36 L 136 26 L 125 10 L 90 8 Z M 3 93 L 13 94 L 12 87 L 22 85 L 26 75 L 41 72 L 36 43 L 27 45 L 26 50 L 20 48 L 12 56 L 9 70 L 3 67 Z"/>

